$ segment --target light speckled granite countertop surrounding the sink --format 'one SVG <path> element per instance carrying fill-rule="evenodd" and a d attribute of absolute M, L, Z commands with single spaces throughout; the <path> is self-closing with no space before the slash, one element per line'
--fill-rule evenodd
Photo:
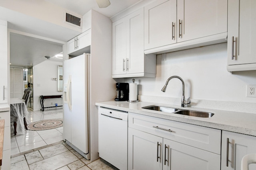
<path fill-rule="evenodd" d="M 214 129 L 220 129 L 225 131 L 231 131 L 231 132 L 256 136 L 256 114 L 254 113 L 242 113 L 242 112 L 235 112 L 235 111 L 204 109 L 204 108 L 197 108 L 197 107 L 182 108 L 177 105 L 157 104 L 157 103 L 150 103 L 150 102 L 130 103 L 127 101 L 124 101 L 124 102 L 108 101 L 108 102 L 97 102 L 95 105 L 107 107 L 110 109 L 138 113 L 141 115 L 148 115 L 148 116 L 158 117 L 162 119 L 168 119 L 168 120 L 179 121 L 183 123 L 190 123 L 193 125 L 200 125 L 200 126 L 210 127 Z M 142 107 L 150 106 L 150 105 L 173 107 L 177 109 L 206 111 L 206 112 L 214 113 L 214 115 L 212 117 L 194 117 L 194 116 L 188 116 L 188 115 L 180 115 L 176 113 L 166 113 L 162 111 L 142 109 Z"/>

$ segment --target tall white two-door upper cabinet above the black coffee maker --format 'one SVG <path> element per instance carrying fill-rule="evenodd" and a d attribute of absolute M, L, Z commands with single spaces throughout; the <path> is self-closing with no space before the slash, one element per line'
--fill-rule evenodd
<path fill-rule="evenodd" d="M 112 24 L 112 78 L 156 76 L 156 55 L 144 55 L 143 8 Z"/>

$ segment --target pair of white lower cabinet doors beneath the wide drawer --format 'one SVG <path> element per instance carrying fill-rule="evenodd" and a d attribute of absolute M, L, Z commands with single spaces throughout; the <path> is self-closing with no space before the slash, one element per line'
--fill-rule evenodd
<path fill-rule="evenodd" d="M 218 170 L 220 155 L 129 128 L 128 170 Z"/>

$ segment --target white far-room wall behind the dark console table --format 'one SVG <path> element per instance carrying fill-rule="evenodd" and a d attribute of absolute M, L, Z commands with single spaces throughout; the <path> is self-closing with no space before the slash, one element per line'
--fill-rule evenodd
<path fill-rule="evenodd" d="M 62 95 L 58 92 L 57 81 L 52 78 L 57 78 L 57 66 L 62 65 L 60 62 L 44 61 L 34 66 L 33 70 L 33 92 L 34 92 L 34 110 L 40 110 L 40 95 Z M 53 105 L 51 105 L 51 102 Z M 44 106 L 62 105 L 62 98 L 46 99 Z"/>

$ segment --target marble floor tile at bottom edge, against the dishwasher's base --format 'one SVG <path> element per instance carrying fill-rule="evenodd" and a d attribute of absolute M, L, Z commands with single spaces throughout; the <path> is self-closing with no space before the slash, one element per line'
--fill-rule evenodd
<path fill-rule="evenodd" d="M 91 170 L 118 170 L 118 168 L 114 167 L 110 163 L 106 162 L 103 159 L 97 159 L 94 162 L 87 164 L 87 166 Z"/>

